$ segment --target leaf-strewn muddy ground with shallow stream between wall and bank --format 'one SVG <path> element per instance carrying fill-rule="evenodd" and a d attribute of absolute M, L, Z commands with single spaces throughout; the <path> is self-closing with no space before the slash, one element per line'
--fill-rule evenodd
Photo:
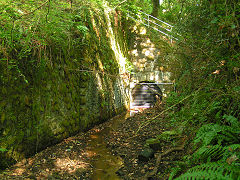
<path fill-rule="evenodd" d="M 0 173 L 0 179 L 168 179 L 170 169 L 186 154 L 186 137 L 161 141 L 151 158 L 140 158 L 148 149 L 147 139 L 172 130 L 161 111 L 158 107 L 118 116 L 15 164 Z"/>

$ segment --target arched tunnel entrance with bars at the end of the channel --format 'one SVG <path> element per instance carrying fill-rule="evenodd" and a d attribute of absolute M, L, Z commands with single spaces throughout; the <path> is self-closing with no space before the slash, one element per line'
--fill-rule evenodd
<path fill-rule="evenodd" d="M 158 83 L 141 81 L 135 85 L 131 92 L 132 101 L 130 110 L 138 112 L 153 107 L 157 99 L 162 100 L 162 90 Z"/>

